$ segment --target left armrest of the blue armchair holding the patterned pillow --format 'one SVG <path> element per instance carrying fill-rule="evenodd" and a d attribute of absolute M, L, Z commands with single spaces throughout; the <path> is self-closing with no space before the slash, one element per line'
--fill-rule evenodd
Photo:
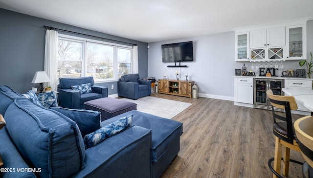
<path fill-rule="evenodd" d="M 59 106 L 64 108 L 80 108 L 80 92 L 72 89 L 58 88 Z"/>

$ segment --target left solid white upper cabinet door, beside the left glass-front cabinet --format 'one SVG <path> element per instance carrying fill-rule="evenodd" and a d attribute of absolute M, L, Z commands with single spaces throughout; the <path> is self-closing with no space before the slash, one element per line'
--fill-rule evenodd
<path fill-rule="evenodd" d="M 250 48 L 266 47 L 266 30 L 256 30 L 250 32 Z"/>

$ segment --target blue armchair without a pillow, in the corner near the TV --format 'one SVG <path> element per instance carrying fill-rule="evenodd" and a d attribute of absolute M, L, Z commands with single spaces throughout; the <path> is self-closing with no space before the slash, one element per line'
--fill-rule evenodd
<path fill-rule="evenodd" d="M 138 99 L 151 95 L 151 81 L 139 79 L 139 74 L 122 76 L 117 81 L 119 97 Z"/>

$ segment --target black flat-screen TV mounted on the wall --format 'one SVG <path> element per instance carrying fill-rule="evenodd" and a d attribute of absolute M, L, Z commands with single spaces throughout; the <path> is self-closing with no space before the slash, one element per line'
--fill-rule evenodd
<path fill-rule="evenodd" d="M 162 62 L 194 61 L 192 41 L 162 44 Z"/>

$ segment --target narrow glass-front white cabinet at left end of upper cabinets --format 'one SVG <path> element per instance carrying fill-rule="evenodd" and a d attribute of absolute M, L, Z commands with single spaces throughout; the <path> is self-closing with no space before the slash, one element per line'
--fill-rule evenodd
<path fill-rule="evenodd" d="M 250 35 L 249 32 L 236 33 L 235 58 L 236 61 L 248 61 L 250 59 Z"/>

